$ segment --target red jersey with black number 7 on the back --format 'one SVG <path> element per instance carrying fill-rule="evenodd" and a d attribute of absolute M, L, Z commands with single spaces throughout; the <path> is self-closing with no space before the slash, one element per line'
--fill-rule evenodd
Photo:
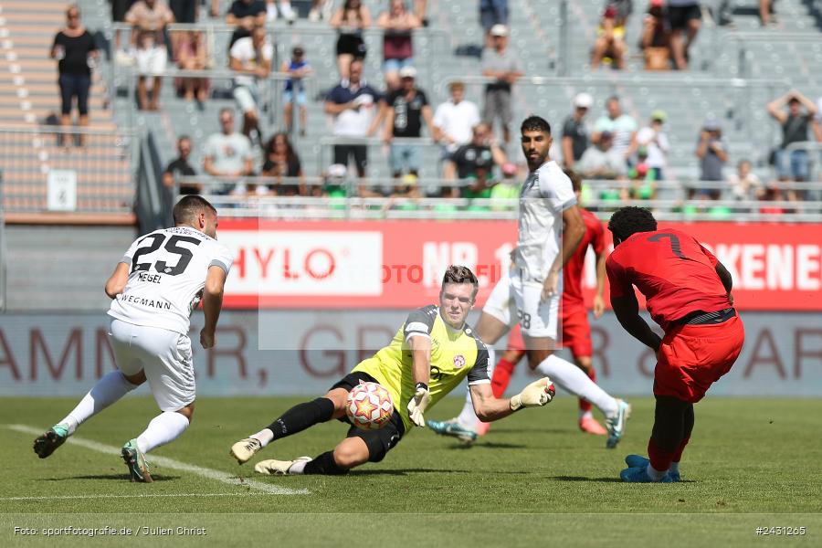
<path fill-rule="evenodd" d="M 719 261 L 680 230 L 638 232 L 614 249 L 606 261 L 611 297 L 623 297 L 637 286 L 647 299 L 651 318 L 668 331 L 672 321 L 694 311 L 722 311 L 731 307 Z"/>

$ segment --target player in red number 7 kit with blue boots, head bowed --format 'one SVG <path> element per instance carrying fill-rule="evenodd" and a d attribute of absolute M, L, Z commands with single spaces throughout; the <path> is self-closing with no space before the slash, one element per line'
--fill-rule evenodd
<path fill-rule="evenodd" d="M 606 261 L 611 306 L 627 332 L 657 353 L 654 427 L 648 457 L 628 455 L 623 481 L 679 481 L 680 458 L 693 429 L 693 404 L 731 370 L 745 332 L 733 309 L 728 270 L 679 230 L 658 230 L 646 209 L 622 207 L 611 216 L 614 252 Z M 659 338 L 639 316 L 632 286 L 647 299 Z"/>

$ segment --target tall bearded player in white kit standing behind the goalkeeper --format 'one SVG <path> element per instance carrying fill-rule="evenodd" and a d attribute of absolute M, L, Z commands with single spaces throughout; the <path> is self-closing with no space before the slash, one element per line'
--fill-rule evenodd
<path fill-rule="evenodd" d="M 606 416 L 606 447 L 614 448 L 625 432 L 630 406 L 608 395 L 574 364 L 553 355 L 562 269 L 585 235 L 585 222 L 571 180 L 548 155 L 553 142 L 551 126 L 531 116 L 522 122 L 521 132 L 530 173 L 520 192 L 517 247 L 511 252 L 509 275 L 491 291 L 474 332 L 491 346 L 519 322 L 531 369 L 597 406 Z M 468 443 L 477 438 L 478 430 L 483 432 L 470 404 L 457 418 L 428 421 L 428 426 L 437 434 Z"/>

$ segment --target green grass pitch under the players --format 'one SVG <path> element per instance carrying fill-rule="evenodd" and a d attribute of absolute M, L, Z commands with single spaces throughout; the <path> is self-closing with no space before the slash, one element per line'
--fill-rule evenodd
<path fill-rule="evenodd" d="M 153 532 L 154 540 L 175 546 L 353 543 L 357 533 L 386 546 L 613 546 L 651 538 L 670 546 L 753 546 L 793 527 L 806 533 L 777 542 L 822 545 L 822 400 L 708 397 L 696 406 L 683 482 L 670 485 L 618 481 L 622 459 L 646 453 L 653 416 L 648 397 L 632 400 L 627 436 L 616 450 L 605 448 L 604 437 L 577 430 L 575 400 L 564 396 L 493 425 L 470 449 L 417 429 L 383 462 L 345 477 L 257 476 L 228 457 L 234 441 L 302 399 L 203 398 L 184 437 L 152 454 L 238 476 L 240 485 L 162 466 L 153 467 L 153 484 L 132 484 L 116 455 L 79 445 L 40 460 L 31 449 L 34 436 L 8 426 L 49 427 L 76 400 L 3 399 L 0 545 L 87 545 L 76 533 L 49 540 L 44 529 L 106 525 L 130 527 L 139 536 Z M 448 418 L 461 404 L 449 398 L 427 416 Z M 156 413 L 153 400 L 127 398 L 76 437 L 120 447 Z M 316 456 L 344 433 L 332 421 L 279 440 L 258 458 Z M 302 494 L 249 488 L 247 479 Z M 178 534 L 179 526 L 205 528 L 206 536 Z M 38 533 L 22 535 L 15 527 Z M 789 529 L 757 535 L 757 527 Z M 160 528 L 172 532 L 160 536 Z M 131 539 L 94 539 L 100 542 Z"/>

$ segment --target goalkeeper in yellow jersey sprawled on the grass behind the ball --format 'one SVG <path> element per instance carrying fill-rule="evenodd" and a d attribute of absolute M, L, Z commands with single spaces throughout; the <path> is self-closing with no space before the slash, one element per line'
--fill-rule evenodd
<path fill-rule="evenodd" d="M 483 421 L 509 416 L 522 407 L 544 406 L 553 399 L 548 377 L 533 382 L 511 399 L 497 399 L 490 388 L 488 350 L 465 320 L 474 306 L 479 284 L 466 267 L 448 267 L 439 291 L 439 306 L 430 305 L 408 315 L 385 348 L 353 368 L 326 395 L 291 407 L 269 427 L 231 447 L 237 462 L 248 462 L 260 449 L 280 437 L 336 418 L 348 422 L 345 401 L 360 381 L 383 385 L 395 403 L 385 427 L 350 427 L 332 451 L 316 458 L 262 460 L 261 474 L 344 474 L 366 462 L 379 462 L 412 427 L 425 427 L 425 412 L 468 377 L 474 411 Z"/>

